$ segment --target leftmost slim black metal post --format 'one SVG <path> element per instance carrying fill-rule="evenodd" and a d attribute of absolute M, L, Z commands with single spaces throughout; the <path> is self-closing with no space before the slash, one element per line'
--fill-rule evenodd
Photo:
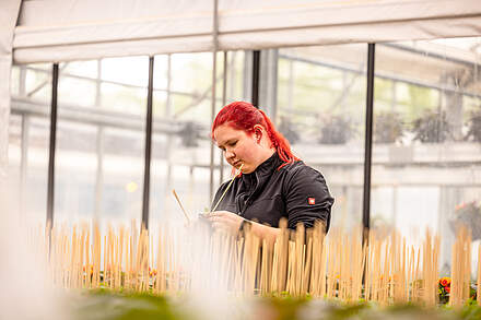
<path fill-rule="evenodd" d="M 48 189 L 47 189 L 47 228 L 54 225 L 54 192 L 55 192 L 55 149 L 57 140 L 57 92 L 58 63 L 54 63 L 51 73 L 51 109 L 50 109 L 50 144 L 48 155 Z"/>

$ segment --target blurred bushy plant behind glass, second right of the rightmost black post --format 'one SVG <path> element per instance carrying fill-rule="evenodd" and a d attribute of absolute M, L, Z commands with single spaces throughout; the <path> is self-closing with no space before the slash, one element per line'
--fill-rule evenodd
<path fill-rule="evenodd" d="M 415 133 L 413 140 L 423 143 L 439 143 L 451 138 L 449 122 L 444 111 L 425 110 L 413 121 L 412 131 Z"/>

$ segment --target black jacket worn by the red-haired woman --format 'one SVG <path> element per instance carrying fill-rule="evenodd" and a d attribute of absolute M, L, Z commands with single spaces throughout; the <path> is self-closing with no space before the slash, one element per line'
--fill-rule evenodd
<path fill-rule="evenodd" d="M 254 173 L 236 178 L 216 210 L 231 211 L 272 227 L 279 227 L 283 216 L 289 228 L 295 228 L 300 222 L 313 227 L 316 220 L 321 220 L 327 232 L 333 198 L 322 175 L 301 161 L 278 169 L 282 164 L 274 153 Z M 214 204 L 228 182 L 219 188 Z"/>

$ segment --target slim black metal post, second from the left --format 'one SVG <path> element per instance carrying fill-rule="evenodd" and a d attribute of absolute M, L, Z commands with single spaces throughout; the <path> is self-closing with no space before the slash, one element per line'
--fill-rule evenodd
<path fill-rule="evenodd" d="M 154 83 L 154 57 L 149 57 L 149 87 L 148 87 L 148 95 L 146 95 L 146 119 L 145 119 L 145 164 L 144 164 L 144 170 L 143 170 L 143 201 L 142 201 L 142 226 L 145 229 L 149 229 L 153 83 Z"/>

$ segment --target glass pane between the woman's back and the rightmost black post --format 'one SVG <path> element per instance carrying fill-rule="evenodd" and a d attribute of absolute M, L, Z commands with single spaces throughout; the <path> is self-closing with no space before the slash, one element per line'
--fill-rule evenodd
<path fill-rule="evenodd" d="M 366 45 L 279 50 L 275 123 L 326 178 L 332 226 L 362 223 Z"/>

